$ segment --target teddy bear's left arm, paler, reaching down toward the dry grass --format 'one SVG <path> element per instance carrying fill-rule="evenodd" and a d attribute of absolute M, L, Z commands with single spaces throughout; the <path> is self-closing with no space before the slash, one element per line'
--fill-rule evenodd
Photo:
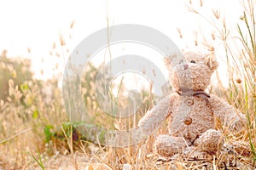
<path fill-rule="evenodd" d="M 146 115 L 138 122 L 138 127 L 143 128 L 145 135 L 154 133 L 160 127 L 168 116 L 172 113 L 172 105 L 177 99 L 177 94 L 170 94 L 164 99 L 161 99 L 157 105 L 150 111 L 147 111 Z"/>

